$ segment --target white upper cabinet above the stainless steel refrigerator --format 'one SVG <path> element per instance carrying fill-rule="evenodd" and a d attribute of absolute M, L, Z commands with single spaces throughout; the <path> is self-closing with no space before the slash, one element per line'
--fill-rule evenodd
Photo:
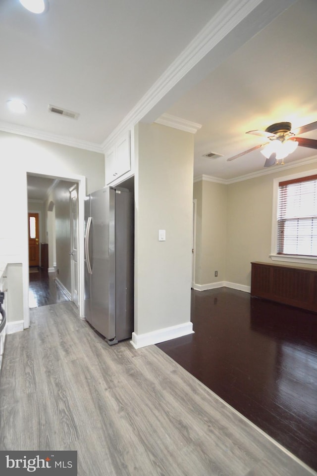
<path fill-rule="evenodd" d="M 130 131 L 106 151 L 106 184 L 131 170 Z"/>

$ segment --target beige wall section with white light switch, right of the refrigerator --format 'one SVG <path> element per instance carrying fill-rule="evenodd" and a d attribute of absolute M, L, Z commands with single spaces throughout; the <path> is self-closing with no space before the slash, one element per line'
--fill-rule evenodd
<path fill-rule="evenodd" d="M 158 124 L 135 133 L 135 333 L 143 334 L 190 322 L 194 137 Z"/>

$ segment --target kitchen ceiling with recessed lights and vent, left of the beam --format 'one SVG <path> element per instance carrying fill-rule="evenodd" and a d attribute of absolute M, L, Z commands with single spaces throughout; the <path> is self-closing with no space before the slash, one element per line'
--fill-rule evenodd
<path fill-rule="evenodd" d="M 0 121 L 101 144 L 223 0 L 0 1 Z M 21 97 L 27 114 L 5 101 Z M 71 120 L 48 104 L 80 113 Z"/>

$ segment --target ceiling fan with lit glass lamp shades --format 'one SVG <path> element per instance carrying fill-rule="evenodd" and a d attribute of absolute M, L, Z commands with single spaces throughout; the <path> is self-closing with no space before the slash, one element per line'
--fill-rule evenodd
<path fill-rule="evenodd" d="M 251 149 L 245 150 L 240 154 L 229 157 L 227 160 L 230 162 L 242 155 L 245 155 L 253 150 L 264 147 L 261 152 L 266 161 L 264 167 L 270 167 L 271 165 L 278 164 L 281 160 L 281 164 L 284 164 L 283 159 L 290 153 L 294 152 L 298 145 L 302 147 L 310 147 L 317 149 L 317 140 L 306 139 L 304 137 L 297 137 L 298 135 L 305 134 L 306 132 L 315 131 L 317 129 L 317 121 L 306 126 L 299 127 L 294 132 L 291 131 L 292 124 L 290 122 L 277 122 L 268 126 L 265 131 L 248 131 L 246 134 L 254 134 L 255 136 L 266 137 L 267 142 L 256 145 Z"/>

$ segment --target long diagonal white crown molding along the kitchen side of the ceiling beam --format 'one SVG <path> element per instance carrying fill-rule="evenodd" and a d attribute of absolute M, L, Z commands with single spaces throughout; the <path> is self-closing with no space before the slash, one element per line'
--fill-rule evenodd
<path fill-rule="evenodd" d="M 227 1 L 106 138 L 102 143 L 103 150 L 140 122 L 160 99 L 262 2 L 263 0 Z"/>

